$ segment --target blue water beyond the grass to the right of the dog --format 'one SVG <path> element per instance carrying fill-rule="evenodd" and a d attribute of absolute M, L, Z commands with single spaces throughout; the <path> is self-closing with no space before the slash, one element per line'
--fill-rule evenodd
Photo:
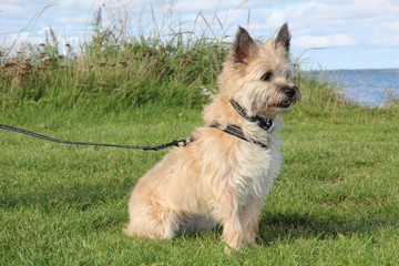
<path fill-rule="evenodd" d="M 337 82 L 350 100 L 366 106 L 382 106 L 388 98 L 399 98 L 399 70 L 329 70 L 321 72 Z"/>

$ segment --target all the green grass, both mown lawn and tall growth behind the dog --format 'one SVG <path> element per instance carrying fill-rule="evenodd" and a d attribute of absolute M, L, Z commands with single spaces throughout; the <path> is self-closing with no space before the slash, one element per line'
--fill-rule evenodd
<path fill-rule="evenodd" d="M 80 57 L 61 55 L 50 32 L 44 45 L 2 58 L 1 123 L 115 144 L 190 136 L 225 43 L 122 38 L 115 47 L 119 34 L 105 34 L 96 16 Z M 225 255 L 221 229 L 172 241 L 122 234 L 132 187 L 167 151 L 2 131 L 0 265 L 399 265 L 398 106 L 361 108 L 311 73 L 295 79 L 304 98 L 285 116 L 284 166 L 257 248 Z"/>

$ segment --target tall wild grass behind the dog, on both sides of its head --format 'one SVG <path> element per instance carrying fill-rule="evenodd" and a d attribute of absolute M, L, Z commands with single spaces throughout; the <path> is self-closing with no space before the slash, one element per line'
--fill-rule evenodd
<path fill-rule="evenodd" d="M 126 7 L 112 10 L 95 11 L 93 34 L 80 48 L 66 43 L 66 53 L 50 28 L 43 43 L 0 57 L 0 109 L 89 105 L 117 111 L 147 104 L 192 108 L 208 101 L 229 48 L 223 41 L 228 27 L 216 13 L 209 21 L 198 12 L 187 27 L 173 20 L 171 6 L 163 18 L 153 14 L 152 25 L 134 34 Z M 299 113 L 354 106 L 337 93 L 337 84 L 300 71 L 300 60 L 295 60 L 295 80 L 304 91 Z"/>

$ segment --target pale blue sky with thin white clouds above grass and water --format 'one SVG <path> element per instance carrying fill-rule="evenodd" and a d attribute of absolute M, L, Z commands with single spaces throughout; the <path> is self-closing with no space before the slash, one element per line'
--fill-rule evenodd
<path fill-rule="evenodd" d="M 293 58 L 305 69 L 399 69 L 398 0 L 1 0 L 0 49 L 41 43 L 49 27 L 61 43 L 78 45 L 100 7 L 104 24 L 129 21 L 132 35 L 207 29 L 232 37 L 242 25 L 267 40 L 288 22 Z"/>

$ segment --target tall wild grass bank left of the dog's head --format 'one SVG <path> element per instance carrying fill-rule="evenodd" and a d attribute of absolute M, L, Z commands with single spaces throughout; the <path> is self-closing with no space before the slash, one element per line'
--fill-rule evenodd
<path fill-rule="evenodd" d="M 71 45 L 60 52 L 50 29 L 44 43 L 25 45 L 2 60 L 0 108 L 44 104 L 57 108 L 95 104 L 125 109 L 151 103 L 194 106 L 216 88 L 226 54 L 215 38 L 183 38 L 181 32 L 129 37 L 124 27 L 103 25 L 94 13 L 93 32 L 76 55 Z M 119 21 L 119 20 L 117 20 Z"/>

